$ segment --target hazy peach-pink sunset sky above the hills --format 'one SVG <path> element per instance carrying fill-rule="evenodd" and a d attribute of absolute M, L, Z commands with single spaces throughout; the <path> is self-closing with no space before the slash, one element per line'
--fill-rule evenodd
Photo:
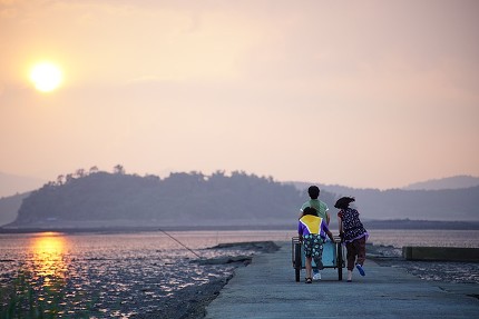
<path fill-rule="evenodd" d="M 479 176 L 478 31 L 476 0 L 0 0 L 0 171 Z"/>

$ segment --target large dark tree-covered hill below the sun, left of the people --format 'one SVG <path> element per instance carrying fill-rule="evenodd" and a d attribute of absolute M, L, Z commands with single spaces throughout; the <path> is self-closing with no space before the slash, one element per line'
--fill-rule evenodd
<path fill-rule="evenodd" d="M 33 191 L 10 226 L 284 225 L 295 222 L 306 199 L 293 186 L 243 172 L 172 173 L 165 179 L 96 172 Z"/>

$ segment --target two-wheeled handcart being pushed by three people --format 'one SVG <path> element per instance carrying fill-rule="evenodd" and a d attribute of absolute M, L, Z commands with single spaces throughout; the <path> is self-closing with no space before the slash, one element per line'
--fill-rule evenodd
<path fill-rule="evenodd" d="M 305 268 L 305 256 L 303 245 L 299 237 L 293 237 L 292 240 L 292 259 L 296 281 L 300 281 L 301 269 Z M 334 241 L 323 243 L 323 266 L 324 268 L 338 269 L 338 280 L 343 280 L 344 249 L 340 237 L 334 237 Z M 313 269 L 316 267 L 313 260 Z"/>

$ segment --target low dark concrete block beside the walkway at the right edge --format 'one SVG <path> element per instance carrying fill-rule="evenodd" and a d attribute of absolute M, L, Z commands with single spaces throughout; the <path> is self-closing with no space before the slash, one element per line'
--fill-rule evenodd
<path fill-rule="evenodd" d="M 402 248 L 405 260 L 479 262 L 479 248 L 411 247 Z"/>

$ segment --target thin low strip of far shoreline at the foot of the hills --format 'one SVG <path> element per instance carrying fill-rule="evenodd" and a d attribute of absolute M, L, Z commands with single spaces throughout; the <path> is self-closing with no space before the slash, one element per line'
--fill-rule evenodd
<path fill-rule="evenodd" d="M 431 220 L 364 220 L 366 229 L 447 229 L 447 230 L 479 230 L 479 221 L 431 221 Z M 148 226 L 148 227 L 0 227 L 0 233 L 33 233 L 33 232 L 139 232 L 139 231 L 241 231 L 241 230 L 295 230 L 292 225 L 255 225 L 255 226 Z"/>

